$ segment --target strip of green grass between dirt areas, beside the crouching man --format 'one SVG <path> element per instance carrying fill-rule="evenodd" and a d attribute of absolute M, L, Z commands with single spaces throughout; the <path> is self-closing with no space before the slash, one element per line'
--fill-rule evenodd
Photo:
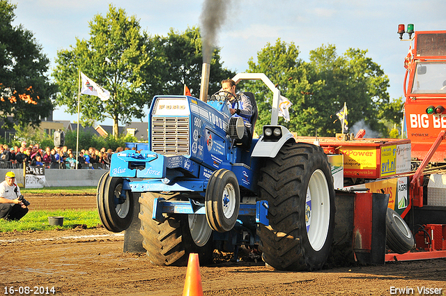
<path fill-rule="evenodd" d="M 48 217 L 63 217 L 63 226 L 48 224 Z M 70 229 L 79 225 L 87 228 L 100 225 L 97 210 L 33 210 L 20 221 L 0 219 L 0 232 L 8 231 L 51 231 L 55 229 Z"/>

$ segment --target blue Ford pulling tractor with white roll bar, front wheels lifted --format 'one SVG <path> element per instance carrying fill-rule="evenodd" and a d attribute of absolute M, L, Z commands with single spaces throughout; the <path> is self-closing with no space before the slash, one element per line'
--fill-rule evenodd
<path fill-rule="evenodd" d="M 98 212 L 109 231 L 130 226 L 133 196 L 139 196 L 139 233 L 154 265 L 183 265 L 190 253 L 201 264 L 213 251 L 259 247 L 277 270 L 318 270 L 334 233 L 334 188 L 323 149 L 296 143 L 277 125 L 279 90 L 273 93 L 272 120 L 249 148 L 238 145 L 243 120 L 231 117 L 226 95 L 201 100 L 157 95 L 151 104 L 150 150 L 112 155 L 110 171 L 98 184 Z M 203 84 L 203 82 L 202 82 Z M 203 90 L 203 86 L 202 86 Z M 257 107 L 252 93 L 252 131 Z M 207 100 L 208 99 L 208 100 Z M 252 133 L 253 134 L 253 133 Z"/>

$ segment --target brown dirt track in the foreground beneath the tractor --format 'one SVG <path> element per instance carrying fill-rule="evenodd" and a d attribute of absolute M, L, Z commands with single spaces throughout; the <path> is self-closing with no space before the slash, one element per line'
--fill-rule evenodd
<path fill-rule="evenodd" d="M 89 200 L 95 201 L 95 196 Z M 153 266 L 145 254 L 124 254 L 123 233 L 105 228 L 0 233 L 0 249 L 3 295 L 11 286 L 54 287 L 54 295 L 183 293 L 187 267 Z M 231 263 L 215 255 L 213 265 L 201 266 L 204 295 L 419 295 L 422 287 L 442 289 L 440 294 L 446 295 L 446 259 L 279 272 L 261 261 Z M 429 291 L 435 295 L 435 290 Z"/>

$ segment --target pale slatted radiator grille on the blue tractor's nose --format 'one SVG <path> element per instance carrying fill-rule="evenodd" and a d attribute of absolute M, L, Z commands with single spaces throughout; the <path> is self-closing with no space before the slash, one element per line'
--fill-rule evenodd
<path fill-rule="evenodd" d="M 162 155 L 189 155 L 189 117 L 153 117 L 152 151 Z"/>

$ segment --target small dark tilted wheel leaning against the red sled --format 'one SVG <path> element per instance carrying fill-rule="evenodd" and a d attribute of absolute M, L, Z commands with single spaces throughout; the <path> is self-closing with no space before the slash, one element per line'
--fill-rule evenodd
<path fill-rule="evenodd" d="M 415 240 L 409 226 L 391 208 L 387 208 L 385 227 L 387 228 L 387 247 L 395 253 L 404 254 L 415 246 Z"/>

